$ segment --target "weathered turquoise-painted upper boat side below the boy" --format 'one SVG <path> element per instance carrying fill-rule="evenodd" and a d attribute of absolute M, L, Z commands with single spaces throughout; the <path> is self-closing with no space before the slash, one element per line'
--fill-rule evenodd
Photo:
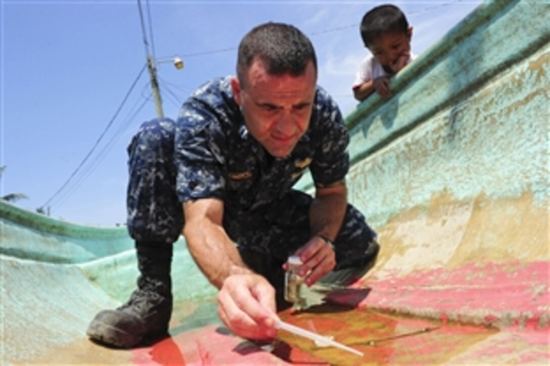
<path fill-rule="evenodd" d="M 369 217 L 444 191 L 548 202 L 549 17 L 543 2 L 487 2 L 399 75 L 392 99 L 348 115 L 351 196 Z"/>

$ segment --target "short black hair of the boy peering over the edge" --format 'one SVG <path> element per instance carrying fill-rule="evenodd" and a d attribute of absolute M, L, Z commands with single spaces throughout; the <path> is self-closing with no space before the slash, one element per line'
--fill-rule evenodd
<path fill-rule="evenodd" d="M 368 48 L 378 37 L 390 33 L 405 33 L 409 22 L 395 5 L 386 4 L 369 10 L 361 20 L 361 38 Z"/>

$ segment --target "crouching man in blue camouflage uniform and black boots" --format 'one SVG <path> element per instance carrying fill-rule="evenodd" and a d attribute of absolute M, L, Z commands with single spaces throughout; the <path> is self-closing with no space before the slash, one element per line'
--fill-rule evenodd
<path fill-rule="evenodd" d="M 303 260 L 307 285 L 376 256 L 376 233 L 347 203 L 349 135 L 316 86 L 311 42 L 293 26 L 257 26 L 240 43 L 237 75 L 200 87 L 177 122 L 147 122 L 130 143 L 128 229 L 141 275 L 127 303 L 96 315 L 91 339 L 133 347 L 166 334 L 182 230 L 219 289 L 219 317 L 250 339 L 276 334 L 289 255 Z M 315 197 L 292 189 L 307 169 Z"/>

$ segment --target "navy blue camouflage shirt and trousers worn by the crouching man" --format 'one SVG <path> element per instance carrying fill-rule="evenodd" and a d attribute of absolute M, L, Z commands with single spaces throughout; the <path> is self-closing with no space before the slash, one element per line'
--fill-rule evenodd
<path fill-rule="evenodd" d="M 292 187 L 307 169 L 317 184 L 344 179 L 348 143 L 337 105 L 317 87 L 309 129 L 288 157 L 273 158 L 246 128 L 230 77 L 210 81 L 183 104 L 176 123 L 151 120 L 131 141 L 130 235 L 172 243 L 183 228 L 182 202 L 220 199 L 224 229 L 244 262 L 278 287 L 281 265 L 312 236 L 312 197 Z M 372 257 L 368 249 L 375 238 L 363 215 L 348 204 L 334 241 L 336 269 Z"/>

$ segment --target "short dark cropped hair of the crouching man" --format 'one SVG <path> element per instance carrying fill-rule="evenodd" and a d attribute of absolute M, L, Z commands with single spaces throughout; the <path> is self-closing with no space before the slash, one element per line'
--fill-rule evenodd
<path fill-rule="evenodd" d="M 243 37 L 237 56 L 237 76 L 244 86 L 246 72 L 260 58 L 270 75 L 300 76 L 312 61 L 317 70 L 315 49 L 298 28 L 282 23 L 265 23 Z"/>

